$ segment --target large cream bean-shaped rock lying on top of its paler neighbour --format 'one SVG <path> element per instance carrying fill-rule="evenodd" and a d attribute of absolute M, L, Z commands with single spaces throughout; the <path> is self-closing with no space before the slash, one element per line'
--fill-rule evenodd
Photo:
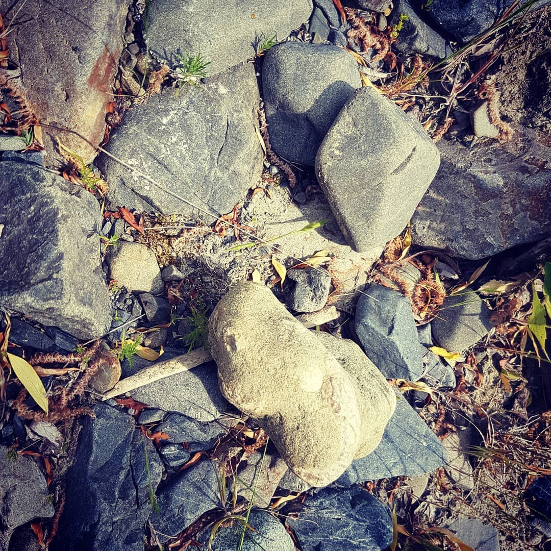
<path fill-rule="evenodd" d="M 357 385 L 267 287 L 234 285 L 210 316 L 208 343 L 223 395 L 256 419 L 305 482 L 332 482 L 379 437 L 377 428 L 360 434 Z M 384 422 L 391 412 L 377 391 L 372 398 L 364 405 Z"/>

